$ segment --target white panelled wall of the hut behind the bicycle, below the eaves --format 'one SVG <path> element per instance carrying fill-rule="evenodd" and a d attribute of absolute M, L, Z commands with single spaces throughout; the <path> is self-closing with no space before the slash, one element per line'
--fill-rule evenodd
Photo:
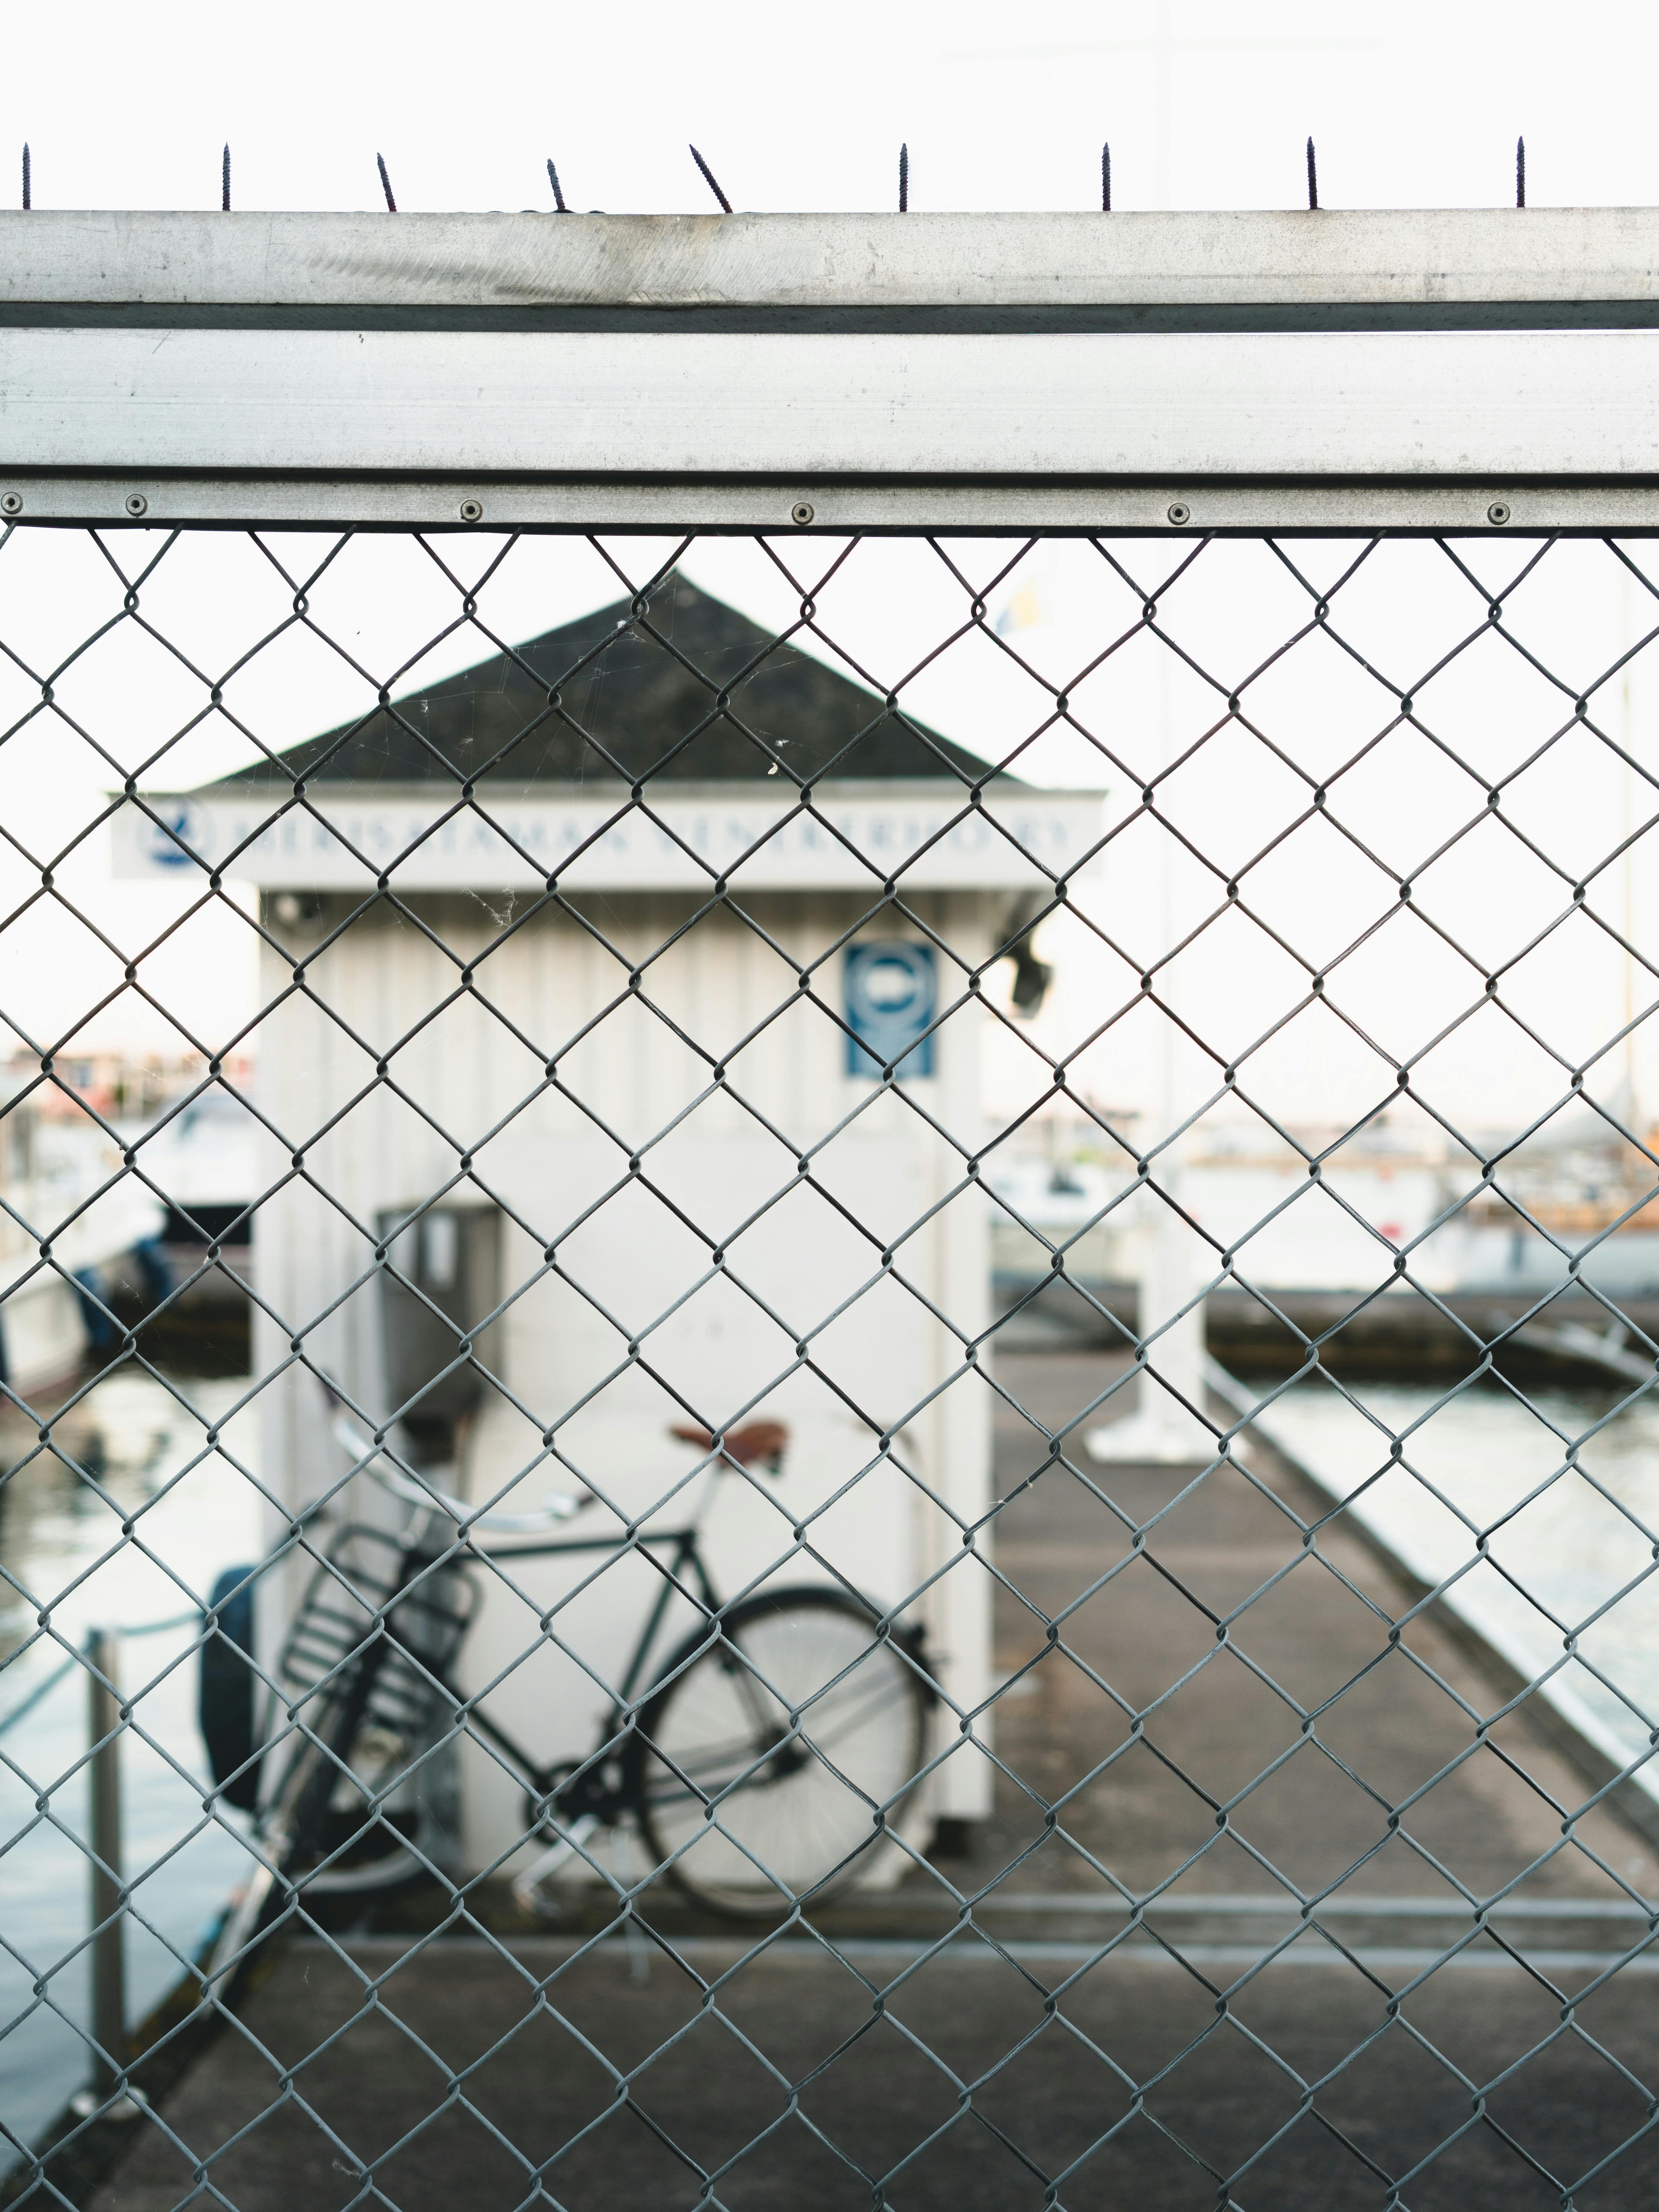
<path fill-rule="evenodd" d="M 498 1201 L 511 1303 L 487 1354 L 500 1389 L 460 1455 L 469 1500 L 524 1511 L 586 1482 L 602 1502 L 568 1533 L 668 1526 L 699 1460 L 668 1440 L 675 1420 L 779 1418 L 792 1431 L 781 1478 L 714 1484 L 721 1595 L 845 1577 L 883 1606 L 911 1604 L 947 1694 L 975 1705 L 991 1577 L 962 1524 L 989 1502 L 991 1405 L 980 1376 L 958 1374 L 953 1332 L 975 1336 L 989 1314 L 984 1201 L 962 1192 L 907 1232 L 962 1179 L 949 1139 L 982 1141 L 982 1009 L 945 1024 L 936 1075 L 914 1084 L 936 1130 L 845 1073 L 843 1031 L 772 949 L 823 962 L 816 989 L 838 1009 L 838 940 L 863 911 L 845 894 L 754 900 L 754 929 L 730 914 L 692 922 L 670 896 L 529 920 L 522 898 L 513 914 L 504 894 L 434 896 L 405 914 L 380 905 L 330 945 L 345 911 L 323 900 L 281 931 L 301 984 L 265 951 L 261 995 L 281 1004 L 261 1033 L 261 1108 L 281 1133 L 272 1181 L 288 1181 L 257 1217 L 261 1371 L 299 1332 L 305 1358 L 385 1418 L 376 1214 L 451 1183 L 453 1201 Z M 916 911 L 969 958 L 989 947 L 978 894 L 929 894 Z M 956 995 L 945 956 L 940 987 Z M 712 1062 L 728 1091 L 710 1095 Z M 345 1473 L 299 1365 L 265 1391 L 265 1447 L 288 1504 Z M 354 1515 L 385 1513 L 354 1489 Z M 478 1577 L 465 1686 L 540 1759 L 586 1754 L 657 1573 L 633 1551 L 498 1559 Z M 672 1637 L 690 1624 L 677 1601 Z M 664 1655 L 666 1641 L 648 1674 Z M 989 1761 L 949 1712 L 947 1741 L 918 1823 L 989 1809 Z M 473 1743 L 462 1805 L 465 1863 L 489 1865 L 520 1832 L 522 1794 Z"/>

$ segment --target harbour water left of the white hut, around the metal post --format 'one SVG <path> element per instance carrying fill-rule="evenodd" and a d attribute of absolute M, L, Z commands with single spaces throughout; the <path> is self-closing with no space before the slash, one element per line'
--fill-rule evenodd
<path fill-rule="evenodd" d="M 122 1736 L 128 2024 L 173 1989 L 246 1869 L 241 1814 L 201 1807 L 195 1714 L 197 1608 L 221 1568 L 259 1555 L 259 1413 L 232 1411 L 246 1391 L 246 1378 L 128 1369 L 53 1422 L 55 1449 L 0 1416 L 0 2163 L 91 2070 L 86 1674 L 51 1679 L 93 1628 L 124 1630 L 135 1723 Z"/>

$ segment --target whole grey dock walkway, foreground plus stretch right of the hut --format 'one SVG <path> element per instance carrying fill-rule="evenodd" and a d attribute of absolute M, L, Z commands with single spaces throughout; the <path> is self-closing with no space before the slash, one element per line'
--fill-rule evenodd
<path fill-rule="evenodd" d="M 1108 1371 L 1000 1367 L 1048 1429 Z M 1042 1460 L 1040 1427 L 1000 1413 L 1004 1491 Z M 1137 1520 L 1179 1489 L 1091 1475 Z M 1577 2212 L 1659 2199 L 1659 2130 L 1641 2135 L 1659 1975 L 1644 1955 L 1599 1986 L 1646 1940 L 1619 1885 L 1659 1893 L 1648 1845 L 1608 1809 L 1564 1836 L 1586 1790 L 1526 1712 L 1455 1763 L 1467 1708 L 1498 1692 L 1431 1621 L 1389 1641 L 1405 1593 L 1356 1535 L 1321 1540 L 1329 1566 L 1305 1557 L 1228 1471 L 1086 1597 L 1128 1551 L 1064 1469 L 1000 1520 L 1000 1666 L 1042 1659 L 998 1717 L 998 1816 L 938 1867 L 969 1891 L 1013 1869 L 975 1913 L 984 1936 L 940 1951 L 951 1902 L 922 1874 L 823 1918 L 841 1958 L 807 1938 L 757 1955 L 684 1920 L 679 1958 L 575 1936 L 294 1944 L 142 2124 L 97 2212 L 1559 2212 L 1586 2174 Z M 1287 1562 L 1219 1644 L 1217 1615 Z M 1124 1705 L 1183 1677 L 1133 1730 Z M 1336 1692 L 1303 1730 L 1287 1699 Z M 1124 1920 L 1099 1867 L 1141 1893 L 1186 1869 L 1106 1958 Z M 1323 1933 L 1296 1936 L 1285 1882 L 1340 1885 Z M 1515 1885 L 1495 1936 L 1458 1882 Z"/>

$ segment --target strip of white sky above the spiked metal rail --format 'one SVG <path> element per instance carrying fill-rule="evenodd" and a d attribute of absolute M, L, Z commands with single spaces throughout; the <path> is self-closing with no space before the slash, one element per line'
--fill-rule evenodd
<path fill-rule="evenodd" d="M 208 208 L 219 146 L 246 208 L 706 210 L 697 139 L 739 208 L 1086 208 L 1113 142 L 1124 208 L 1659 195 L 1652 9 L 1588 0 L 951 7 L 841 0 L 628 9 L 292 0 L 281 9 L 13 9 L 0 146 L 42 208 Z"/>

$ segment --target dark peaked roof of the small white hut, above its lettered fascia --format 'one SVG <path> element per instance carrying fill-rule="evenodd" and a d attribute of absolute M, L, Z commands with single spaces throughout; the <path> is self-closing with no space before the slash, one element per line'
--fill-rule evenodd
<path fill-rule="evenodd" d="M 971 752 L 668 575 L 644 622 L 617 599 L 226 785 L 728 781 L 765 776 L 774 761 L 807 779 L 989 774 Z"/>

